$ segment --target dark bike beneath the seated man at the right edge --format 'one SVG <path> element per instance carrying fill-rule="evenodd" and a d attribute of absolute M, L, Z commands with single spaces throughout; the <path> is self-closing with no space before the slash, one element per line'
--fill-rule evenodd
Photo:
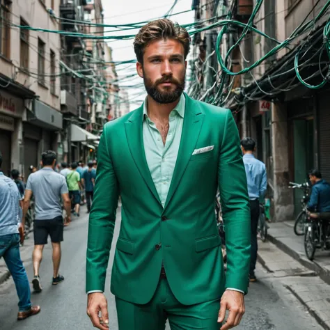
<path fill-rule="evenodd" d="M 330 250 L 330 212 L 308 214 L 304 248 L 307 258 L 311 261 L 316 249 Z"/>

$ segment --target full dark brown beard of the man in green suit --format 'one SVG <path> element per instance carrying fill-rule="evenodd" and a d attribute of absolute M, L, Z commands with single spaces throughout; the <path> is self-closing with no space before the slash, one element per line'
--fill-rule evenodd
<path fill-rule="evenodd" d="M 161 79 L 155 81 L 155 83 L 152 83 L 152 81 L 148 77 L 146 77 L 145 72 L 143 72 L 143 82 L 148 95 L 150 95 L 153 100 L 160 104 L 173 103 L 178 100 L 178 98 L 182 95 L 182 92 L 184 91 L 184 85 L 186 83 L 184 77 L 185 74 L 183 76 L 182 81 L 179 81 L 173 78 L 173 76 L 163 76 Z M 175 90 L 159 91 L 158 85 L 164 82 L 171 82 L 172 84 L 174 84 Z"/>

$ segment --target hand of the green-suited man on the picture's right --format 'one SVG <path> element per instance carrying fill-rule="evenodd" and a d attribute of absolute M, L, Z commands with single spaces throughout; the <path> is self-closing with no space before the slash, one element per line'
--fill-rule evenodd
<path fill-rule="evenodd" d="M 225 320 L 226 310 L 229 311 L 229 315 L 226 323 L 223 324 L 220 330 L 232 329 L 241 322 L 245 313 L 244 294 L 234 290 L 226 290 L 221 297 L 219 323 Z"/>

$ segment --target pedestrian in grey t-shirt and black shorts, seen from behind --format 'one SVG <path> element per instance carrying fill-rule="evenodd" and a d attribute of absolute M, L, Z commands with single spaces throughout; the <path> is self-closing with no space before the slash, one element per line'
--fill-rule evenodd
<path fill-rule="evenodd" d="M 53 278 L 52 284 L 56 285 L 64 280 L 58 273 L 61 263 L 61 242 L 63 241 L 63 213 L 61 198 L 66 211 L 66 222 L 70 222 L 71 203 L 68 187 L 63 175 L 56 173 L 56 153 L 47 150 L 42 153 L 42 168 L 29 176 L 26 184 L 23 219 L 29 209 L 30 200 L 34 196 L 36 206 L 36 220 L 34 221 L 34 250 L 33 250 L 33 289 L 42 291 L 40 283 L 40 263 L 42 251 L 51 238 L 53 248 Z"/>

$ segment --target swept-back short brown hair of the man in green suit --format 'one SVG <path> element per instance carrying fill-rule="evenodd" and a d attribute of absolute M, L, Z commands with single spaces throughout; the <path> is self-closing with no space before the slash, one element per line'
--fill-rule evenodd
<path fill-rule="evenodd" d="M 148 47 L 150 42 L 159 39 L 173 39 L 181 42 L 184 48 L 184 59 L 187 58 L 191 42 L 189 33 L 178 23 L 173 23 L 170 19 L 162 18 L 142 26 L 139 33 L 136 34 L 134 52 L 139 63 L 143 63 L 144 49 Z"/>

